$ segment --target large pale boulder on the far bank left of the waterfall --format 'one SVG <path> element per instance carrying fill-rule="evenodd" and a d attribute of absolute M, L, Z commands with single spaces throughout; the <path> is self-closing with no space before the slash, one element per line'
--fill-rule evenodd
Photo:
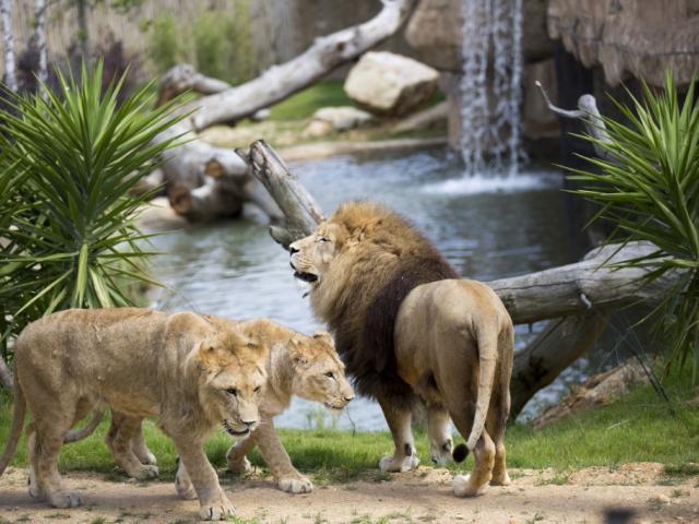
<path fill-rule="evenodd" d="M 345 81 L 350 98 L 379 115 L 406 115 L 431 98 L 439 73 L 412 58 L 388 51 L 367 52 Z"/>

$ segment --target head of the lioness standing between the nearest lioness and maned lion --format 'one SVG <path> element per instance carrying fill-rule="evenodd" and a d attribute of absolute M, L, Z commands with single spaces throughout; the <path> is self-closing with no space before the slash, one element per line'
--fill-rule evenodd
<path fill-rule="evenodd" d="M 342 409 L 354 398 L 354 391 L 345 378 L 345 366 L 328 332 L 317 331 L 313 336 L 294 335 L 288 346 L 294 365 L 294 394 L 321 402 L 331 409 Z"/>

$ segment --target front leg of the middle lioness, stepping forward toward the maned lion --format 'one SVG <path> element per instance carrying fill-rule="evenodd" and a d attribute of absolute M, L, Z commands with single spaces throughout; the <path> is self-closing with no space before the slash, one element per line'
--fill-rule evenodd
<path fill-rule="evenodd" d="M 309 493 L 313 490 L 313 483 L 298 473 L 274 431 L 272 419 L 262 420 L 254 430 L 254 441 L 260 446 L 262 458 L 276 480 L 282 491 L 287 493 Z"/>

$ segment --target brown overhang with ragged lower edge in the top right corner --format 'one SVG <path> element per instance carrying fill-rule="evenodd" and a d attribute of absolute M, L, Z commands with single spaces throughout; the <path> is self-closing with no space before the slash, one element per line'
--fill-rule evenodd
<path fill-rule="evenodd" d="M 612 85 L 629 73 L 662 85 L 668 67 L 682 85 L 699 71 L 699 0 L 550 0 L 548 35 Z"/>

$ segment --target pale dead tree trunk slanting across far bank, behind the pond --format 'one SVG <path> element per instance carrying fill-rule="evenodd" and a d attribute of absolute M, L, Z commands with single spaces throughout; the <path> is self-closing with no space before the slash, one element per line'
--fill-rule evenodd
<path fill-rule="evenodd" d="M 230 87 L 225 82 L 208 79 L 193 68 L 179 67 L 166 76 L 166 85 L 161 88 L 158 100 L 167 100 L 183 88 L 193 88 L 208 94 L 181 108 L 191 116 L 164 132 L 158 140 L 183 135 L 196 139 L 196 133 L 215 123 L 229 123 L 249 117 L 259 109 L 283 100 L 297 91 L 307 87 L 324 76 L 337 66 L 347 62 L 391 36 L 411 13 L 415 0 L 382 0 L 383 9 L 364 24 L 316 39 L 304 53 L 281 66 L 274 66 L 257 79 Z M 204 186 L 204 178 L 215 176 L 217 181 L 210 191 L 223 191 L 224 181 L 238 186 L 239 202 L 232 202 L 237 209 L 241 202 L 253 201 L 273 218 L 282 215 L 274 202 L 256 188 L 258 180 L 251 178 L 247 166 L 230 150 L 214 147 L 193 140 L 173 150 L 174 157 L 163 167 L 165 179 L 170 187 L 190 191 Z M 232 194 L 232 193 L 229 193 Z M 253 200 L 254 199 L 254 200 Z M 220 199 L 215 199 L 220 200 Z M 204 200 L 191 199 L 192 205 L 204 204 Z M 225 206 L 224 206 L 225 207 Z M 185 214 L 198 218 L 215 218 L 214 210 L 185 209 Z M 224 212 L 229 210 L 224 209 Z"/>

